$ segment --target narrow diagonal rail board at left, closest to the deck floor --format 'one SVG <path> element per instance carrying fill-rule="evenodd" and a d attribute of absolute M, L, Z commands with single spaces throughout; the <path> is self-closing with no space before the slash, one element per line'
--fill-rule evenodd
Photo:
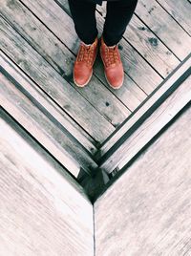
<path fill-rule="evenodd" d="M 24 90 L 30 96 L 37 100 L 38 104 L 51 113 L 51 115 L 59 122 L 64 129 L 68 130 L 70 134 L 78 140 L 90 153 L 96 152 L 96 141 L 92 139 L 85 131 L 77 125 L 74 120 L 53 102 L 53 100 L 43 93 L 32 80 L 25 75 L 4 53 L 0 52 L 0 66 L 8 72 L 14 80 L 22 85 Z"/>

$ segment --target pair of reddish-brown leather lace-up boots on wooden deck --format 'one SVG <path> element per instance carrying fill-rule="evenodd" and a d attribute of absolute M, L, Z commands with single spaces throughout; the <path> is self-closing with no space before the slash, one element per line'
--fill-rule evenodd
<path fill-rule="evenodd" d="M 81 42 L 74 62 L 74 83 L 78 87 L 84 87 L 89 83 L 93 75 L 97 50 L 98 38 L 92 45 L 86 45 Z M 108 47 L 101 37 L 100 55 L 108 84 L 113 89 L 120 88 L 123 83 L 124 72 L 117 45 Z"/>

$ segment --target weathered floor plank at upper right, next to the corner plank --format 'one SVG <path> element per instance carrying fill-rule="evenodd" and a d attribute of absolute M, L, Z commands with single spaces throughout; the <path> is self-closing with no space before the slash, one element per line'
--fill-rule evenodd
<path fill-rule="evenodd" d="M 162 42 L 183 60 L 191 53 L 191 37 L 155 0 L 139 0 L 136 13 Z"/>

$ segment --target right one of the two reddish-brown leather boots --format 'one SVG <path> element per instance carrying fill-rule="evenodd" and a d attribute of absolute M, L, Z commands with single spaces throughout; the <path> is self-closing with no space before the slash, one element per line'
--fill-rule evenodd
<path fill-rule="evenodd" d="M 120 88 L 124 80 L 124 71 L 117 45 L 108 47 L 104 43 L 103 37 L 101 37 L 100 55 L 104 64 L 107 82 L 114 89 Z"/>

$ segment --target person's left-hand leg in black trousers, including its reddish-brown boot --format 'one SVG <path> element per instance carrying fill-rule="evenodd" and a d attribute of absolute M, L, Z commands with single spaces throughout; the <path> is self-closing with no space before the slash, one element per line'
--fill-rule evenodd
<path fill-rule="evenodd" d="M 74 62 L 74 83 L 78 87 L 87 85 L 93 75 L 98 38 L 96 30 L 96 4 L 86 0 L 69 0 L 74 28 L 81 40 Z"/>

